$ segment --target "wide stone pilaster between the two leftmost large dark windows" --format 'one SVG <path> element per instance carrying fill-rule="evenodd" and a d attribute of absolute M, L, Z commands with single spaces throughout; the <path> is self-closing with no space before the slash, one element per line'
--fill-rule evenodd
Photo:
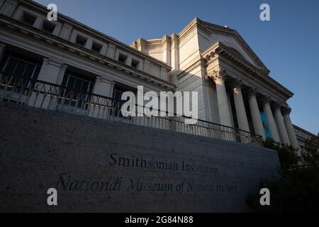
<path fill-rule="evenodd" d="M 61 85 L 66 69 L 67 65 L 63 64 L 63 62 L 44 58 L 38 80 Z M 40 86 L 35 87 L 35 92 L 31 94 L 30 99 L 28 100 L 28 106 L 55 110 L 57 106 L 57 97 L 50 95 L 50 93 L 59 94 L 59 92 L 60 90 L 58 87 L 40 84 Z"/>

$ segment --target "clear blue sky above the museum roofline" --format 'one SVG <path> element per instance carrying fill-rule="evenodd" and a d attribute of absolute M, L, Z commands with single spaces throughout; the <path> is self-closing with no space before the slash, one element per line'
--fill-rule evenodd
<path fill-rule="evenodd" d="M 319 132 L 319 1 L 214 0 L 37 0 L 58 12 L 130 44 L 181 31 L 192 18 L 237 30 L 295 95 L 289 100 L 294 124 Z M 267 3 L 271 21 L 259 20 Z"/>

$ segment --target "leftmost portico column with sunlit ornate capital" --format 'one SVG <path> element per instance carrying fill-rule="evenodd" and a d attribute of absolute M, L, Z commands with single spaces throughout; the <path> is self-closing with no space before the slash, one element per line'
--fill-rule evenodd
<path fill-rule="evenodd" d="M 214 71 L 213 76 L 216 84 L 220 124 L 223 126 L 232 127 L 230 106 L 228 104 L 228 97 L 225 87 L 225 70 L 219 69 Z"/>

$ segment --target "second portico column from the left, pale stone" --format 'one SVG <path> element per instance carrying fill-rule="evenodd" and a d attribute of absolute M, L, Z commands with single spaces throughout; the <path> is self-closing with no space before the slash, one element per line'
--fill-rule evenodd
<path fill-rule="evenodd" d="M 233 84 L 233 95 L 235 101 L 238 127 L 243 131 L 250 132 L 250 126 L 247 120 L 244 99 L 242 99 L 242 87 L 239 83 Z"/>

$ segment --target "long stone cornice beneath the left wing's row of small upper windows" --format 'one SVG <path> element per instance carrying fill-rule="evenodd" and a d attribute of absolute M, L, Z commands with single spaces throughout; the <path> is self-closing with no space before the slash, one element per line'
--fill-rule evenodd
<path fill-rule="evenodd" d="M 174 90 L 176 88 L 176 86 L 170 82 L 164 81 L 140 70 L 133 69 L 132 67 L 124 65 L 121 62 L 112 60 L 111 58 L 103 56 L 92 50 L 82 48 L 55 35 L 45 33 L 38 28 L 27 26 L 26 24 L 21 23 L 20 21 L 13 20 L 12 18 L 9 18 L 7 16 L 0 16 L 0 27 L 1 30 L 7 29 L 8 31 L 18 33 L 18 35 L 23 35 L 28 38 L 34 39 L 38 43 L 41 42 L 46 45 L 51 45 L 52 47 L 59 48 L 60 50 L 63 50 L 65 52 L 69 52 L 72 55 L 78 55 L 79 57 L 86 58 L 91 62 L 96 62 L 99 63 L 99 65 L 107 66 L 113 70 L 124 72 L 125 74 L 129 74 L 130 76 L 136 77 L 137 79 L 150 82 L 151 84 L 155 84 L 159 87 L 164 87 L 165 89 L 169 90 Z"/>

